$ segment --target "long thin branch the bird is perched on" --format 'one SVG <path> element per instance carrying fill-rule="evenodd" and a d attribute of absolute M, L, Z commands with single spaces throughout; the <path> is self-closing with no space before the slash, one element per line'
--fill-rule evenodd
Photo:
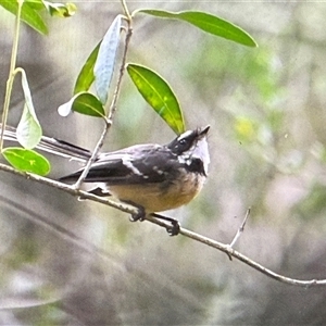
<path fill-rule="evenodd" d="M 138 210 L 136 208 L 133 208 L 130 205 L 123 204 L 123 203 L 120 203 L 120 202 L 116 202 L 116 201 L 113 201 L 113 200 L 109 200 L 109 199 L 105 199 L 105 198 L 102 198 L 102 197 L 98 197 L 98 196 L 95 196 L 95 195 L 89 193 L 87 191 L 75 189 L 73 186 L 62 184 L 62 183 L 59 183 L 59 181 L 55 181 L 55 180 L 52 180 L 52 179 L 48 179 L 46 177 L 41 177 L 41 176 L 29 174 L 29 173 L 20 172 L 20 171 L 14 170 L 13 167 L 11 167 L 9 165 L 5 165 L 5 164 L 2 164 L 2 163 L 0 163 L 0 171 L 4 171 L 4 172 L 8 172 L 8 173 L 11 173 L 11 174 L 14 174 L 14 175 L 18 175 L 21 177 L 25 177 L 27 179 L 30 179 L 30 180 L 34 180 L 34 181 L 37 181 L 37 183 L 57 188 L 57 189 L 60 189 L 60 190 L 65 191 L 70 195 L 72 195 L 72 196 L 83 197 L 85 199 L 89 199 L 89 200 L 92 200 L 92 201 L 96 201 L 96 202 L 115 208 L 115 209 L 117 209 L 120 211 L 123 211 L 123 212 L 126 212 L 128 214 L 135 214 L 135 213 L 138 212 Z M 170 226 L 166 222 L 163 222 L 161 220 L 156 220 L 152 216 L 146 216 L 146 220 L 153 223 L 153 224 L 162 226 L 165 229 L 166 229 L 166 227 Z M 198 241 L 198 242 L 201 242 L 205 246 L 217 249 L 217 250 L 226 253 L 227 255 L 233 256 L 233 258 L 241 261 L 242 263 L 253 267 L 254 269 L 261 272 L 262 274 L 264 274 L 264 275 L 266 275 L 271 278 L 274 278 L 278 281 L 281 281 L 284 284 L 300 286 L 300 287 L 305 287 L 305 288 L 310 288 L 310 287 L 313 287 L 313 286 L 326 286 L 326 279 L 301 280 L 301 279 L 290 278 L 290 277 L 286 277 L 286 276 L 283 276 L 280 274 L 277 274 L 277 273 L 264 267 L 263 265 L 252 261 L 251 259 L 247 258 L 246 255 L 241 254 L 240 252 L 234 250 L 229 244 L 224 244 L 222 242 L 215 241 L 211 238 L 206 238 L 204 236 L 201 236 L 201 235 L 199 235 L 197 233 L 193 233 L 191 230 L 188 230 L 186 228 L 181 227 L 180 230 L 179 230 L 179 234 L 187 237 L 187 238 L 190 238 L 195 241 Z"/>

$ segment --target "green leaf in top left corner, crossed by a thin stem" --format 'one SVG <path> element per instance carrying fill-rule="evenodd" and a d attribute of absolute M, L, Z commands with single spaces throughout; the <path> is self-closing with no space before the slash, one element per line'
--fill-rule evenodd
<path fill-rule="evenodd" d="M 37 4 L 37 3 L 36 3 Z M 16 15 L 18 3 L 13 0 L 0 0 L 0 5 L 3 7 L 9 12 Z M 35 9 L 34 3 L 24 2 L 22 7 L 22 21 L 29 25 L 32 28 L 37 30 L 40 34 L 48 34 L 48 27 L 43 18 L 39 15 L 39 13 Z"/>

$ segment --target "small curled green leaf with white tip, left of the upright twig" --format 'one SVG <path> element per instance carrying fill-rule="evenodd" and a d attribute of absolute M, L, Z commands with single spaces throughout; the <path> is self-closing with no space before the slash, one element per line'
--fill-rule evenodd
<path fill-rule="evenodd" d="M 58 108 L 58 112 L 62 116 L 68 115 L 72 111 L 97 117 L 105 116 L 101 101 L 86 91 L 75 95 L 68 102 Z"/>

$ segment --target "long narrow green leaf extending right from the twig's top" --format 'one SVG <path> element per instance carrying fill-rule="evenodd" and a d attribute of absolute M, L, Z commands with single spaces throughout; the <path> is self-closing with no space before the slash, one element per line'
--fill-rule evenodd
<path fill-rule="evenodd" d="M 230 22 L 227 22 L 225 20 L 222 20 L 217 16 L 211 15 L 205 12 L 200 12 L 200 11 L 170 12 L 170 11 L 150 10 L 150 9 L 139 10 L 139 12 L 153 15 L 156 17 L 162 17 L 162 18 L 185 21 L 206 33 L 233 40 L 237 43 L 248 46 L 248 47 L 258 46 L 255 40 L 242 28 L 238 27 L 237 25 Z"/>

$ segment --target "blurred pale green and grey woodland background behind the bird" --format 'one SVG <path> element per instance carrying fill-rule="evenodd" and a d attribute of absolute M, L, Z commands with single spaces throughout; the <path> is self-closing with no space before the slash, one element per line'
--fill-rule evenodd
<path fill-rule="evenodd" d="M 168 212 L 186 228 L 229 242 L 251 206 L 236 249 L 288 277 L 326 278 L 326 3 L 127 1 L 130 10 L 200 10 L 249 32 L 259 48 L 213 37 L 186 23 L 137 15 L 128 62 L 170 82 L 188 128 L 211 125 L 208 183 Z M 57 109 L 102 38 L 118 1 L 75 1 L 50 33 L 27 26 L 18 65 L 27 72 L 48 136 L 92 149 L 97 118 Z M 3 102 L 13 16 L 0 9 Z M 23 109 L 15 82 L 10 124 Z M 128 76 L 104 150 L 167 143 L 173 131 Z M 49 158 L 51 177 L 74 168 Z M 1 325 L 324 325 L 326 289 L 273 280 L 150 223 L 4 172 L 0 189 Z"/>

